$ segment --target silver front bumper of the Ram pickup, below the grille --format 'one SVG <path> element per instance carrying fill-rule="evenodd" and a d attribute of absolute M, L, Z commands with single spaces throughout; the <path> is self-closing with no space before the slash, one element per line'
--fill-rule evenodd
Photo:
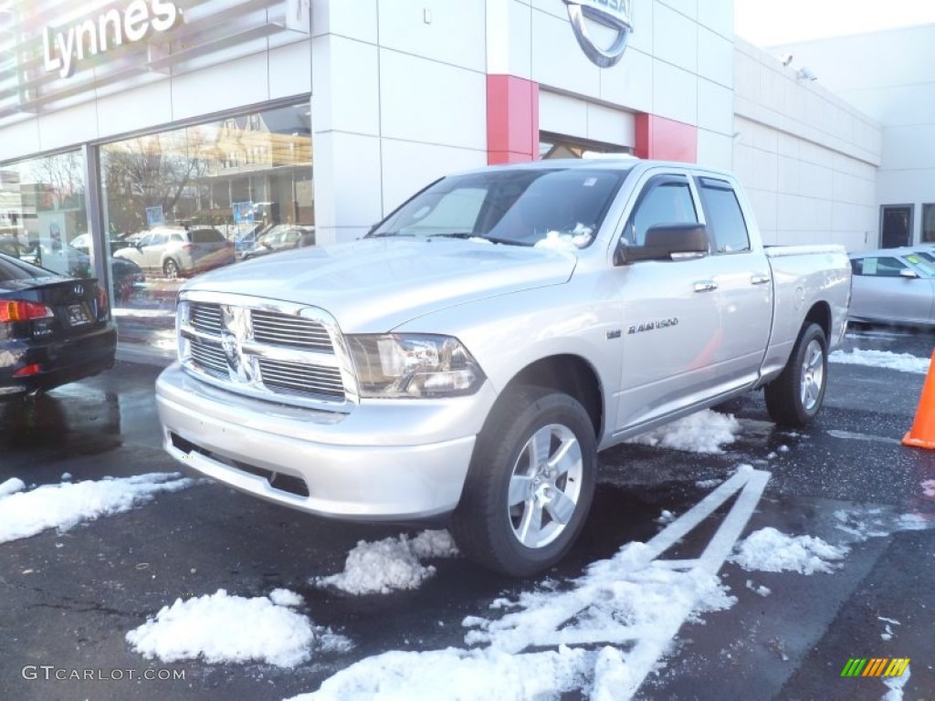
<path fill-rule="evenodd" d="M 489 383 L 443 400 L 370 400 L 350 413 L 229 393 L 178 364 L 156 381 L 165 450 L 238 490 L 322 516 L 424 519 L 461 498 Z"/>

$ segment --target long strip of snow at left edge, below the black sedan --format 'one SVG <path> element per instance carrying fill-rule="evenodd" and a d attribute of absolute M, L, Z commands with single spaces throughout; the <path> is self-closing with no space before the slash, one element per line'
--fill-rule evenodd
<path fill-rule="evenodd" d="M 4 485 L 11 481 L 7 479 Z M 121 479 L 44 484 L 31 492 L 7 494 L 0 497 L 0 543 L 35 536 L 47 528 L 66 531 L 79 522 L 146 504 L 160 492 L 178 492 L 193 484 L 193 479 L 181 479 L 178 472 L 153 472 Z"/>

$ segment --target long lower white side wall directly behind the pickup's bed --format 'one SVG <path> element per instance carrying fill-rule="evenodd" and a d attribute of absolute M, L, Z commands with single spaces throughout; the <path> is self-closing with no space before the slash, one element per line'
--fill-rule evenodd
<path fill-rule="evenodd" d="M 876 245 L 880 125 L 738 39 L 734 169 L 768 244 Z"/>

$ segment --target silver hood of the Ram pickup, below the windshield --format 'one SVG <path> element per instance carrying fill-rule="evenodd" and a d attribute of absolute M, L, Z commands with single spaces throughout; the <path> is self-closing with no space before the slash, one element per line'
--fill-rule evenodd
<path fill-rule="evenodd" d="M 576 261 L 570 252 L 451 238 L 365 238 L 227 265 L 183 290 L 307 304 L 345 333 L 385 333 L 430 311 L 561 284 Z"/>

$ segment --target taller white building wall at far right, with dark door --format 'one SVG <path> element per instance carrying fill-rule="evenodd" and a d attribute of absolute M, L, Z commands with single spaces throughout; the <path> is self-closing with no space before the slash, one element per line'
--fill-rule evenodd
<path fill-rule="evenodd" d="M 919 240 L 923 204 L 935 203 L 935 24 L 792 44 L 818 82 L 883 125 L 875 206 L 913 204 Z M 874 225 L 878 240 L 879 223 Z"/>

